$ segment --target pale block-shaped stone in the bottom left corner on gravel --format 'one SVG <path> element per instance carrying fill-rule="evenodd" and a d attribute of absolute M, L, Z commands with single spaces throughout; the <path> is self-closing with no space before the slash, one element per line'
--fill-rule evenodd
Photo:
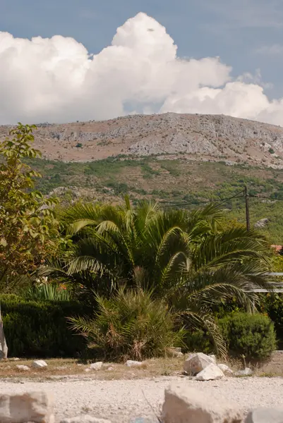
<path fill-rule="evenodd" d="M 1 423 L 54 423 L 53 398 L 45 392 L 0 395 Z"/>

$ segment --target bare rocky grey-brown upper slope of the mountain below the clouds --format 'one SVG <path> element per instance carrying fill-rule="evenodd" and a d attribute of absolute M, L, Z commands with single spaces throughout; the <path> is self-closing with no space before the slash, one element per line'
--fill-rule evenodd
<path fill-rule="evenodd" d="M 0 127 L 0 137 L 10 127 Z M 226 161 L 283 168 L 283 128 L 223 115 L 133 115 L 110 121 L 38 125 L 43 157 L 92 161 L 124 155 Z"/>

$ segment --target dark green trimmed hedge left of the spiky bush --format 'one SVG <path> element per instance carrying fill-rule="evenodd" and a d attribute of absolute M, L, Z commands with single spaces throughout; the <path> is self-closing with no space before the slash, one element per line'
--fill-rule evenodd
<path fill-rule="evenodd" d="M 33 302 L 17 295 L 0 295 L 4 331 L 11 357 L 76 357 L 86 348 L 74 336 L 67 318 L 83 315 L 78 302 Z"/>

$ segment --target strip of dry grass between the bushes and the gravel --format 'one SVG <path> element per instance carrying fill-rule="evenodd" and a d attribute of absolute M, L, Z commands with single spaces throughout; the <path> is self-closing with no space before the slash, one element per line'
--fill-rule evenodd
<path fill-rule="evenodd" d="M 88 369 L 90 362 L 81 362 L 75 359 L 47 359 L 48 366 L 42 369 L 33 369 L 33 360 L 18 360 L 12 359 L 0 361 L 0 379 L 22 380 L 46 380 L 46 379 L 97 379 L 97 380 L 121 380 L 121 379 L 144 379 L 155 378 L 161 376 L 181 376 L 183 371 L 183 361 L 186 356 L 182 358 L 153 358 L 145 360 L 141 367 L 126 367 L 125 364 L 117 364 L 105 362 L 100 370 Z M 30 371 L 20 371 L 16 368 L 18 364 L 23 364 L 30 367 Z M 245 364 L 242 360 L 229 360 L 226 363 L 234 371 L 243 369 Z M 109 370 L 109 367 L 111 368 Z M 253 370 L 253 376 L 257 377 L 275 377 L 283 376 L 283 355 L 278 353 L 272 356 L 271 360 L 261 363 L 246 363 L 246 367 Z M 249 376 L 249 377 L 253 377 Z M 247 377 L 247 376 L 238 376 Z"/>

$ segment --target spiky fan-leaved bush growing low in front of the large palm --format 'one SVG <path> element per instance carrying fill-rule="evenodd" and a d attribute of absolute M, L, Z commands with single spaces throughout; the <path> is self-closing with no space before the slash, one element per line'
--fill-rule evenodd
<path fill-rule="evenodd" d="M 109 300 L 96 296 L 93 319 L 71 318 L 73 329 L 85 335 L 89 347 L 110 360 L 143 360 L 166 355 L 183 345 L 183 329 L 168 306 L 143 290 L 120 288 Z"/>

